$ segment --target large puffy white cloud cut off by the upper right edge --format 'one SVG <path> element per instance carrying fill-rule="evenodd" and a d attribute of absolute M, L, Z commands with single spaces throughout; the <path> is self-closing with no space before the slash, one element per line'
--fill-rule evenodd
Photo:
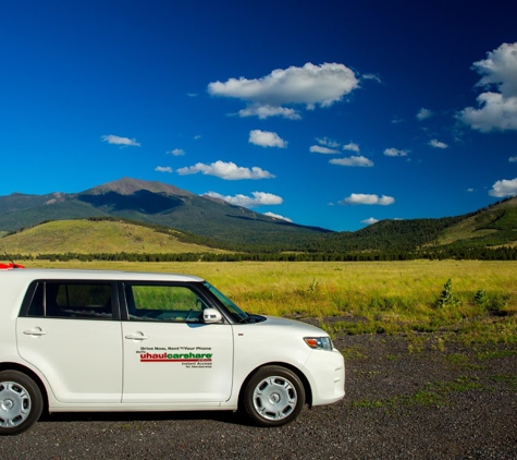
<path fill-rule="evenodd" d="M 478 108 L 467 107 L 457 118 L 472 130 L 517 130 L 517 43 L 503 44 L 472 64 L 482 75 L 476 86 L 487 90 L 477 97 Z"/>

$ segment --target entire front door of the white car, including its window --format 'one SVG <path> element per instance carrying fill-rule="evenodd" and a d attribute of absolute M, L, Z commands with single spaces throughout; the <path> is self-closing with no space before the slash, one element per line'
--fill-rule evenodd
<path fill-rule="evenodd" d="M 230 398 L 233 332 L 204 324 L 194 287 L 125 282 L 123 403 L 220 402 Z"/>

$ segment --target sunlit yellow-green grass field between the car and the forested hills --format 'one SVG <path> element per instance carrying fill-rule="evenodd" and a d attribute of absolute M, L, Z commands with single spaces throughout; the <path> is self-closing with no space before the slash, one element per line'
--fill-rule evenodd
<path fill-rule="evenodd" d="M 247 312 L 318 318 L 331 334 L 440 332 L 470 341 L 517 341 L 516 262 L 26 265 L 197 275 Z"/>

